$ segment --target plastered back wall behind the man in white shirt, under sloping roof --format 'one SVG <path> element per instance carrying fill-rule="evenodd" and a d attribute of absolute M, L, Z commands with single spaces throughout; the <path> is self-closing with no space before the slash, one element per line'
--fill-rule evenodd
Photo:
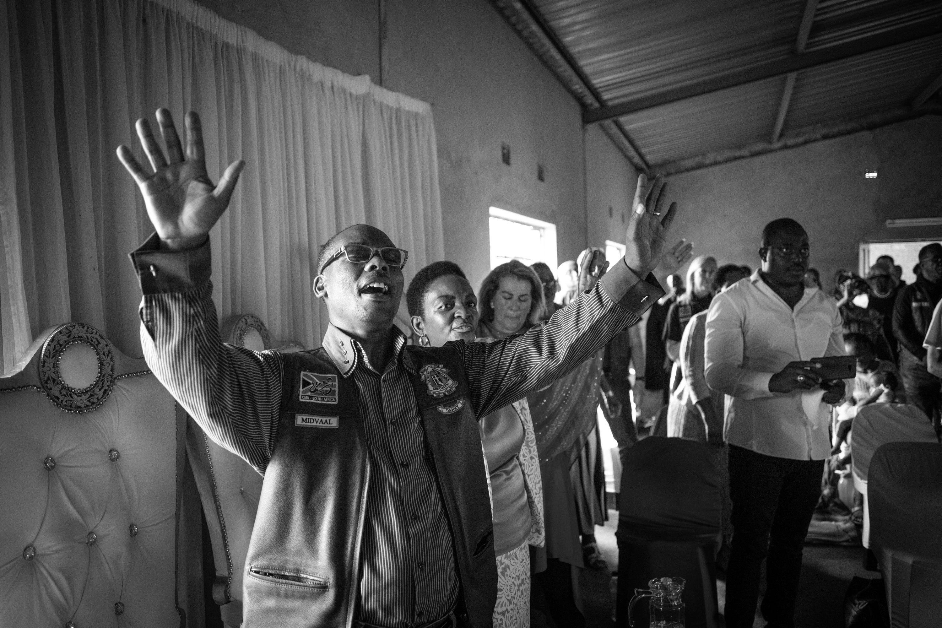
<path fill-rule="evenodd" d="M 865 179 L 866 169 L 878 169 Z M 837 268 L 855 270 L 857 243 L 887 218 L 942 216 L 942 117 L 682 172 L 668 179 L 679 204 L 674 238 L 720 264 L 758 266 L 762 228 L 778 217 L 804 225 L 811 266 L 831 287 Z M 684 269 L 686 270 L 686 269 Z"/>

